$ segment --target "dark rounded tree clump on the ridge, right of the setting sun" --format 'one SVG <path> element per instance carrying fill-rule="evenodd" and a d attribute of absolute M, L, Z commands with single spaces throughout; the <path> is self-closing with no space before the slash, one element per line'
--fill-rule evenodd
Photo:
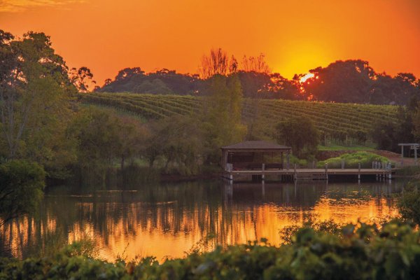
<path fill-rule="evenodd" d="M 309 100 L 408 105 L 420 100 L 420 82 L 412 73 L 391 77 L 377 73 L 367 61 L 337 61 L 309 71 L 302 83 Z"/>

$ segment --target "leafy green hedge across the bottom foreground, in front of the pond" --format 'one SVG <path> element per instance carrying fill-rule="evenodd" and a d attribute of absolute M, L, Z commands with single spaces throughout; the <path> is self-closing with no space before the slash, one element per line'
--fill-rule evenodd
<path fill-rule="evenodd" d="M 216 248 L 167 260 L 116 263 L 65 250 L 48 258 L 0 261 L 0 279 L 416 279 L 420 235 L 394 221 L 346 225 L 339 235 L 303 228 L 291 244 Z"/>

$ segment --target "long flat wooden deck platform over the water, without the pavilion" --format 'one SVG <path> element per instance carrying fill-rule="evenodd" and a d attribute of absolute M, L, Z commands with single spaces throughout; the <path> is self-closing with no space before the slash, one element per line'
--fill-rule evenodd
<path fill-rule="evenodd" d="M 230 181 L 237 178 L 255 178 L 260 176 L 265 180 L 266 176 L 277 177 L 279 181 L 285 178 L 288 180 L 328 180 L 331 176 L 356 176 L 359 180 L 361 176 L 377 176 L 380 179 L 391 179 L 395 169 L 272 169 L 272 170 L 232 170 L 224 171 L 222 176 Z M 258 177 L 259 178 L 259 177 Z"/>

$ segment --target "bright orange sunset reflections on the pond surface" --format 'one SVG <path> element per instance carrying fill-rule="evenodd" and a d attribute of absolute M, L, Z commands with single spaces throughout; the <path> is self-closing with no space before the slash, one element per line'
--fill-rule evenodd
<path fill-rule="evenodd" d="M 339 207 L 337 207 L 339 204 Z M 85 211 L 94 211 L 92 203 L 84 203 Z M 109 204 L 111 211 L 118 204 Z M 107 216 L 102 223 L 106 228 L 98 232 L 90 223 L 76 222 L 71 225 L 67 242 L 87 237 L 94 239 L 99 248 L 100 257 L 109 261 L 116 260 L 117 255 L 131 260 L 136 256 L 155 255 L 162 261 L 166 257 L 183 257 L 185 252 L 210 233 L 216 234 L 207 249 L 216 244 L 244 244 L 248 240 L 259 240 L 265 237 L 270 244 L 279 245 L 283 242 L 280 230 L 292 225 L 302 225 L 311 218 L 314 221 L 332 219 L 336 223 L 369 222 L 375 219 L 398 216 L 393 202 L 385 198 L 372 197 L 360 200 L 358 204 L 350 200 L 334 200 L 323 197 L 314 207 L 279 206 L 276 204 L 261 204 L 258 206 L 232 205 L 226 209 L 221 205 L 216 209 L 197 209 L 183 211 L 182 217 L 174 215 L 174 209 L 158 208 L 157 220 L 141 216 L 139 204 L 131 204 L 125 219 L 114 220 Z M 50 218 L 45 223 L 34 224 L 28 218 L 20 223 L 3 226 L 0 229 L 2 238 L 12 245 L 13 255 L 22 257 L 22 246 L 31 244 L 36 239 L 37 227 L 41 227 L 41 235 L 48 237 L 59 232 L 58 221 Z M 29 227 L 29 223 L 31 226 Z M 165 226 L 163 226 L 165 225 Z"/>

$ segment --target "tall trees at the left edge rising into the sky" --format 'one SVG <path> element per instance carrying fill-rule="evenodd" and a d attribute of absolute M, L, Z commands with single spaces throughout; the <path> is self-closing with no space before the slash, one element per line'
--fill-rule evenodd
<path fill-rule="evenodd" d="M 43 33 L 14 38 L 0 30 L 0 61 L 0 158 L 25 158 L 63 176 L 75 160 L 65 131 L 76 93 L 64 59 Z"/>

